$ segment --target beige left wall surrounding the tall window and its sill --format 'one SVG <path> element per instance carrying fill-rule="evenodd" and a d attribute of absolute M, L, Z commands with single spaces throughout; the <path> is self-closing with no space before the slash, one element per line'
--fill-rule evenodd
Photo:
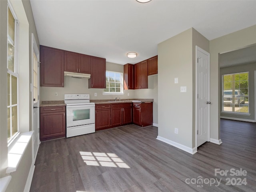
<path fill-rule="evenodd" d="M 33 32 L 38 42 L 34 19 L 29 1 L 16 0 L 11 3 L 16 10 L 20 22 L 20 52 L 19 52 L 19 74 L 20 74 L 20 131 L 28 132 L 31 130 L 32 109 L 30 100 L 31 82 L 31 33 Z M 8 167 L 8 148 L 7 148 L 7 1 L 0 1 L 0 177 L 7 176 L 6 168 Z M 39 42 L 38 42 L 39 45 Z M 12 180 L 7 191 L 23 191 L 28 177 L 28 172 L 32 166 L 32 140 L 28 144 L 20 164 L 15 172 L 10 173 Z"/>

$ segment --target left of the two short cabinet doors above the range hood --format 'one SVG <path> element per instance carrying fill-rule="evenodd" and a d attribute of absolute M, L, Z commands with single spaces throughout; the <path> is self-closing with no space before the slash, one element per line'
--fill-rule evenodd
<path fill-rule="evenodd" d="M 78 53 L 64 51 L 64 71 L 78 72 Z"/>

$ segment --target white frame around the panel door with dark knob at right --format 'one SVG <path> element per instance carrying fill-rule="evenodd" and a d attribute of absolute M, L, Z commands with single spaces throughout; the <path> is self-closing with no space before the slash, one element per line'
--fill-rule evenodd
<path fill-rule="evenodd" d="M 210 53 L 206 52 L 199 46 L 196 46 L 196 127 L 195 127 L 195 141 L 196 141 L 196 149 L 197 149 L 197 112 L 198 112 L 198 106 L 197 106 L 197 87 L 198 87 L 198 82 L 197 82 L 197 58 L 198 58 L 198 51 L 206 54 L 208 56 L 208 63 L 209 63 L 209 68 L 208 68 L 208 101 L 210 101 Z M 210 142 L 210 105 L 208 105 L 208 136 L 207 136 L 207 141 Z"/>

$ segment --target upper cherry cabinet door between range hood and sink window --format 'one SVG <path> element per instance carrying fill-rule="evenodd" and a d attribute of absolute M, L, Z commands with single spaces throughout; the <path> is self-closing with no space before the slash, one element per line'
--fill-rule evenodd
<path fill-rule="evenodd" d="M 106 88 L 106 59 L 91 56 L 89 88 Z"/>

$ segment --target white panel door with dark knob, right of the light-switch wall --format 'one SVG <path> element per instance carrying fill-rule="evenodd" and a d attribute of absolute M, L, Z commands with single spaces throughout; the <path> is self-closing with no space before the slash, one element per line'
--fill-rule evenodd
<path fill-rule="evenodd" d="M 210 141 L 210 54 L 196 46 L 196 146 Z"/>

